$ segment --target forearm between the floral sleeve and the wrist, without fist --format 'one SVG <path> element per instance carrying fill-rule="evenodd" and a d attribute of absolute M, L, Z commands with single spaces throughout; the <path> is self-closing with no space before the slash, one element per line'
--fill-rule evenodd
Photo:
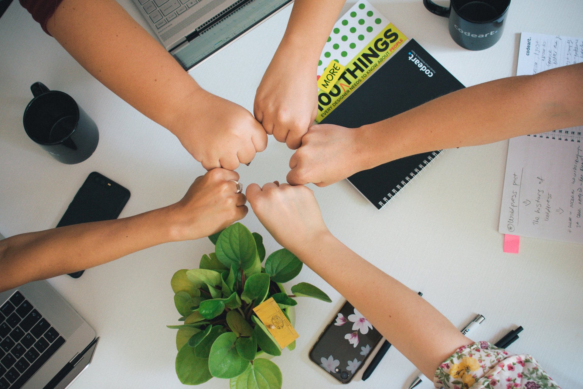
<path fill-rule="evenodd" d="M 325 233 L 317 243 L 299 251 L 294 254 L 349 300 L 427 377 L 457 348 L 472 343 L 431 304 L 331 234 Z"/>

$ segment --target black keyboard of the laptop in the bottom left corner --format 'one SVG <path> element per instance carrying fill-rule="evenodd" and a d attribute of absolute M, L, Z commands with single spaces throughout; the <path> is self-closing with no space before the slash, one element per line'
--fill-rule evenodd
<path fill-rule="evenodd" d="M 18 290 L 0 306 L 0 389 L 19 389 L 65 339 Z"/>

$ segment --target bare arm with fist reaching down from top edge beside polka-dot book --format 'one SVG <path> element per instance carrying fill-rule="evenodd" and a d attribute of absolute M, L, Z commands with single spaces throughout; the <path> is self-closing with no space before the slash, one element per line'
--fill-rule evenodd
<path fill-rule="evenodd" d="M 255 118 L 291 149 L 317 114 L 316 70 L 345 0 L 296 0 L 286 33 L 255 95 Z"/>

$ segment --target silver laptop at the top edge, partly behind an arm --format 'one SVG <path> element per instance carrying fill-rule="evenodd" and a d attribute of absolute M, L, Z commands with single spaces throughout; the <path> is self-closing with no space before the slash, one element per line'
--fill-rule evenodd
<path fill-rule="evenodd" d="M 133 0 L 185 70 L 233 43 L 293 0 Z"/>

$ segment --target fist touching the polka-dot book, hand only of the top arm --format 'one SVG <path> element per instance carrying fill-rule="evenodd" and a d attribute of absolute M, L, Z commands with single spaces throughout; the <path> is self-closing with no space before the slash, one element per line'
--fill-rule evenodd
<path fill-rule="evenodd" d="M 255 94 L 253 111 L 265 132 L 290 149 L 301 145 L 318 113 L 316 68 L 301 52 L 281 47 L 273 56 Z"/>

